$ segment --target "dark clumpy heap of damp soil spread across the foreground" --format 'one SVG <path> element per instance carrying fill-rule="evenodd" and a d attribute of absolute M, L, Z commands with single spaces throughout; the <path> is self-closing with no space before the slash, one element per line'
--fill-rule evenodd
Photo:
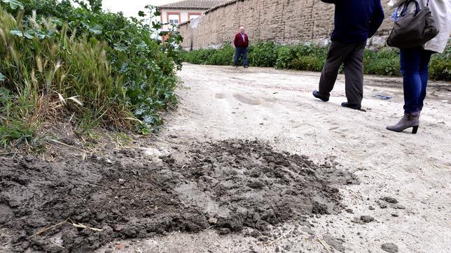
<path fill-rule="evenodd" d="M 193 143 L 158 159 L 121 150 L 85 161 L 0 163 L 0 240 L 17 251 L 87 252 L 114 238 L 169 231 L 263 231 L 340 212 L 333 186 L 356 182 L 329 164 L 244 140 Z"/>

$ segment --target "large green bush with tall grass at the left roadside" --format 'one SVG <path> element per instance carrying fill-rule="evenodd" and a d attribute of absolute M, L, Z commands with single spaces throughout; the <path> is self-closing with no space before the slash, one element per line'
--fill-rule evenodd
<path fill-rule="evenodd" d="M 101 0 L 0 0 L 0 145 L 32 143 L 46 121 L 155 131 L 176 103 L 181 36 L 163 44 L 158 13 L 139 15 Z"/>

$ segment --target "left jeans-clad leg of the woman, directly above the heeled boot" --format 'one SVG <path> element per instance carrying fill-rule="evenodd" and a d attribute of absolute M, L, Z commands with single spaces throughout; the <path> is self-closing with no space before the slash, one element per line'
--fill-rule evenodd
<path fill-rule="evenodd" d="M 405 113 L 416 113 L 421 106 L 422 78 L 419 75 L 419 65 L 422 50 L 421 47 L 401 49 L 399 59 L 403 74 Z"/>

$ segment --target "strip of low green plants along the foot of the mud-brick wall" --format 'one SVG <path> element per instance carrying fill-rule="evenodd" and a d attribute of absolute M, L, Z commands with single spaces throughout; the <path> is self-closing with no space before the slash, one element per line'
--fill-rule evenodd
<path fill-rule="evenodd" d="M 433 55 L 430 65 L 431 78 L 451 80 L 451 47 L 443 54 Z M 257 43 L 249 47 L 250 66 L 321 71 L 327 56 L 327 47 L 304 45 L 277 45 L 272 42 Z M 233 65 L 235 49 L 225 45 L 218 50 L 204 49 L 183 53 L 183 61 L 192 64 Z M 400 75 L 399 53 L 393 48 L 365 50 L 365 73 L 369 75 Z"/>

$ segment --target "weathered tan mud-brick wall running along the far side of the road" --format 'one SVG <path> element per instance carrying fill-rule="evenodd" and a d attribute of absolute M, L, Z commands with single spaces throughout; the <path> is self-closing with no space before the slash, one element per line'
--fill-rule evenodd
<path fill-rule="evenodd" d="M 382 0 L 387 6 L 389 0 Z M 251 41 L 280 44 L 319 41 L 326 43 L 333 31 L 334 5 L 320 0 L 237 0 L 209 10 L 203 17 L 181 24 L 183 48 L 215 48 L 230 43 L 240 26 Z M 391 29 L 389 9 L 386 20 L 370 45 L 384 44 Z"/>

